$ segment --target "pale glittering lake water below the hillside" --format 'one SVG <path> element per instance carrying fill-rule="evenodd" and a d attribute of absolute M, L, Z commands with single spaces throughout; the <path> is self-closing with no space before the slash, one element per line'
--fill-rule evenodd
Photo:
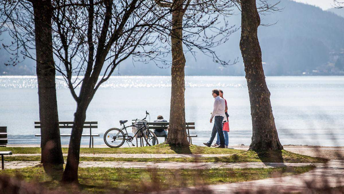
<path fill-rule="evenodd" d="M 57 77 L 60 120 L 73 120 L 76 103 L 61 77 Z M 344 146 L 344 77 L 267 77 L 271 104 L 280 141 L 286 144 Z M 222 89 L 230 115 L 229 144 L 249 145 L 252 135 L 250 104 L 243 76 L 187 76 L 185 78 L 186 121 L 195 122 L 193 143 L 202 145 L 211 134 L 213 107 L 211 90 Z M 171 78 L 169 76 L 113 76 L 98 89 L 86 120 L 97 120 L 95 144 L 104 145 L 103 134 L 120 127 L 119 120 L 157 115 L 169 120 Z M 0 76 L 0 126 L 8 127 L 9 144 L 39 144 L 34 129 L 39 120 L 35 76 Z M 85 130 L 84 133 L 86 133 Z M 61 133 L 70 133 L 61 129 Z M 69 138 L 62 138 L 68 144 Z M 162 139 L 161 139 L 162 140 Z M 88 139 L 83 138 L 82 144 Z"/>

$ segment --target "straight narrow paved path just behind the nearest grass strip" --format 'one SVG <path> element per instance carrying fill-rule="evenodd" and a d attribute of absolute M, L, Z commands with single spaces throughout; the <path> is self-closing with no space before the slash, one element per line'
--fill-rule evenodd
<path fill-rule="evenodd" d="M 6 169 L 24 168 L 38 165 L 39 161 L 5 161 Z M 169 169 L 207 169 L 207 168 L 273 168 L 283 166 L 321 166 L 317 163 L 262 163 L 262 162 L 243 162 L 243 163 L 217 163 L 217 162 L 94 162 L 82 161 L 80 168 L 88 167 L 111 167 L 111 168 L 169 168 Z"/>

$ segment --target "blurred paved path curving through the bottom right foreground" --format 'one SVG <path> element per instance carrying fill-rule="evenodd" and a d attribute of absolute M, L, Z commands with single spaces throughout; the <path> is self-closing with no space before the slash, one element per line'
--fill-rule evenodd
<path fill-rule="evenodd" d="M 182 188 L 163 191 L 163 193 L 284 193 L 301 192 L 310 193 L 310 189 L 323 188 L 325 186 L 344 186 L 344 161 L 333 160 L 327 164 L 316 165 L 316 168 L 307 173 L 268 178 L 257 181 L 209 185 L 204 187 Z M 265 192 L 264 192 L 265 191 Z M 155 192 L 156 193 L 156 192 Z M 320 192 L 322 193 L 322 192 Z"/>

